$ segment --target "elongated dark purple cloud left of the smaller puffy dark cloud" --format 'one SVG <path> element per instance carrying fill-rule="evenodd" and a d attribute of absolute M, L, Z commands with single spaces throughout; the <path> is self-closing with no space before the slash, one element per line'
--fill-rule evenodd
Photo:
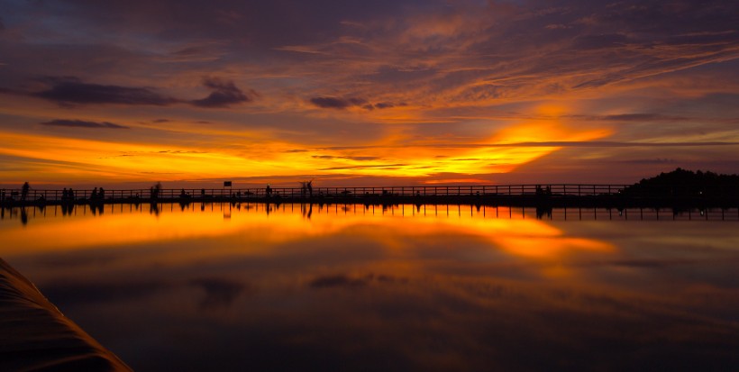
<path fill-rule="evenodd" d="M 50 89 L 32 93 L 59 104 L 151 104 L 168 105 L 178 100 L 156 93 L 148 87 L 87 84 L 74 77 L 47 79 Z"/>

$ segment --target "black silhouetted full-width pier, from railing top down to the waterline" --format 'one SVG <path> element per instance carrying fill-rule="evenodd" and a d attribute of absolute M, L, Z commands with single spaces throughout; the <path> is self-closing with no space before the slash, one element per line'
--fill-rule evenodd
<path fill-rule="evenodd" d="M 6 190 L 0 197 L 5 206 L 39 204 L 128 204 L 192 202 L 275 202 L 330 204 L 466 204 L 555 207 L 654 207 L 708 208 L 739 206 L 739 190 L 673 186 L 669 191 L 628 185 L 493 185 L 493 186 L 388 186 L 314 187 L 306 195 L 301 187 L 240 189 L 149 189 L 106 190 L 105 198 L 93 190 L 75 190 L 74 200 L 65 200 L 63 190 L 30 190 L 21 200 L 20 190 Z"/>

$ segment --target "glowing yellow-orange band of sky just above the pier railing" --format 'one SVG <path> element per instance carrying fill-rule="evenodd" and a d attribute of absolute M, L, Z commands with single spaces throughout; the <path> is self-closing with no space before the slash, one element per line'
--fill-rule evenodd
<path fill-rule="evenodd" d="M 519 122 L 478 143 L 417 143 L 393 130 L 369 146 L 344 149 L 321 149 L 264 138 L 250 141 L 243 136 L 225 136 L 225 143 L 205 141 L 171 146 L 4 132 L 0 133 L 5 139 L 0 154 L 29 159 L 33 166 L 27 172 L 45 182 L 85 177 L 172 181 L 306 174 L 428 177 L 442 173 L 506 173 L 559 149 L 515 143 L 592 141 L 610 134 L 605 129 L 568 127 L 558 119 L 565 111 L 559 106 L 543 106 L 539 111 L 553 115 L 552 119 Z M 492 146 L 484 146 L 485 143 Z M 496 146 L 500 144 L 514 146 Z M 23 171 L 5 172 L 5 179 L 0 181 L 19 181 L 14 177 L 33 180 L 27 176 Z"/>

